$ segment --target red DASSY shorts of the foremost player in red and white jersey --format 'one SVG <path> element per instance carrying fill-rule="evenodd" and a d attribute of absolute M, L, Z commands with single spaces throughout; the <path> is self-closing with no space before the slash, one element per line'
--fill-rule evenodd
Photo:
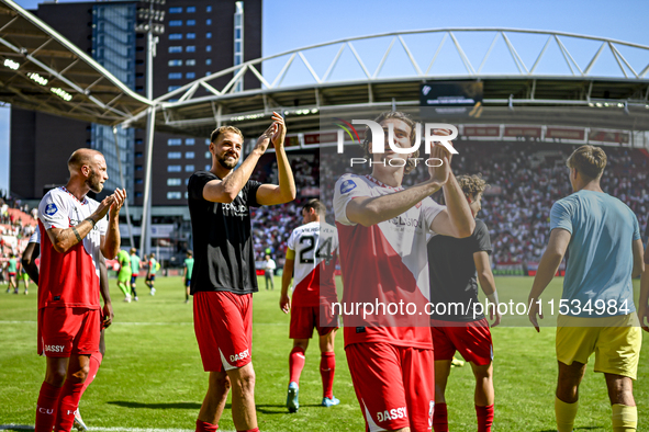
<path fill-rule="evenodd" d="M 366 431 L 430 431 L 435 408 L 433 350 L 388 343 L 345 349 Z"/>

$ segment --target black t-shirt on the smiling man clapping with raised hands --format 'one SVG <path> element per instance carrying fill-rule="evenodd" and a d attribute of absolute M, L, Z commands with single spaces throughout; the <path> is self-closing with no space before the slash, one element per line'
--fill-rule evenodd
<path fill-rule="evenodd" d="M 189 178 L 187 186 L 194 248 L 191 294 L 201 291 L 256 293 L 249 207 L 259 206 L 257 190 L 261 183 L 248 180 L 232 203 L 212 203 L 203 198 L 203 189 L 216 179 L 212 172 L 198 171 Z"/>

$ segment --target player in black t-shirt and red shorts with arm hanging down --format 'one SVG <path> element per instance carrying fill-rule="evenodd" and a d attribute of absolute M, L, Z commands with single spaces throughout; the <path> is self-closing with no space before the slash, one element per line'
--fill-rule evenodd
<path fill-rule="evenodd" d="M 478 175 L 459 175 L 458 183 L 469 201 L 473 217 L 482 208 L 482 193 L 486 183 Z M 489 322 L 482 314 L 473 315 L 480 287 L 493 304 L 489 310 L 497 326 L 497 294 L 489 254 L 489 229 L 475 219 L 471 237 L 458 239 L 434 236 L 428 242 L 430 302 L 435 305 L 430 331 L 435 349 L 435 432 L 448 431 L 445 390 L 452 356 L 457 351 L 471 364 L 475 376 L 475 413 L 478 432 L 490 432 L 493 423 L 493 345 Z"/>

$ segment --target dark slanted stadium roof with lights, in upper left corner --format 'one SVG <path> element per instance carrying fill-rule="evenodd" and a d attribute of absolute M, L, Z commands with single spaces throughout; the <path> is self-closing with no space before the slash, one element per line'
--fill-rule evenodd
<path fill-rule="evenodd" d="M 0 0 L 0 101 L 116 125 L 150 102 L 11 0 Z"/>

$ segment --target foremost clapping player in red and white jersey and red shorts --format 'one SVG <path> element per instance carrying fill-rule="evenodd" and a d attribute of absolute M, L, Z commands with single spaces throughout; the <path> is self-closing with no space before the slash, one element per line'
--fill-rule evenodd
<path fill-rule="evenodd" d="M 407 115 L 388 112 L 374 122 L 384 137 L 392 129 L 395 146 L 415 144 Z M 380 145 L 366 133 L 371 175 L 345 174 L 334 190 L 347 363 L 368 431 L 430 431 L 435 377 L 426 236 L 468 237 L 475 221 L 444 146 L 432 149 L 429 180 L 403 189 L 403 175 L 425 160 L 415 159 L 418 151 L 392 151 L 387 143 L 384 152 L 374 152 L 374 144 Z M 446 207 L 429 197 L 440 189 Z M 358 304 L 376 309 L 350 310 Z"/>

